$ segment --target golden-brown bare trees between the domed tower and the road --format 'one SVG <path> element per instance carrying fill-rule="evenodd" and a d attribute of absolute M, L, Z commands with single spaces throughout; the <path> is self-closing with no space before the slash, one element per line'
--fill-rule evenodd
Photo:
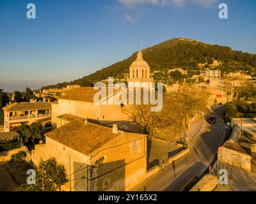
<path fill-rule="evenodd" d="M 188 128 L 188 120 L 205 112 L 207 94 L 198 88 L 188 92 L 166 93 L 163 110 L 151 112 L 150 105 L 125 106 L 124 112 L 138 124 L 145 134 L 158 134 L 169 130 L 174 136 Z"/>

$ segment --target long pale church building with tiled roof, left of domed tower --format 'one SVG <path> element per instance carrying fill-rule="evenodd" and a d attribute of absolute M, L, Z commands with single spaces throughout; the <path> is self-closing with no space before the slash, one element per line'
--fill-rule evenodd
<path fill-rule="evenodd" d="M 113 126 L 115 123 L 120 129 L 138 131 L 128 115 L 124 113 L 124 106 L 121 104 L 103 105 L 95 103 L 94 96 L 97 92 L 93 87 L 81 87 L 63 92 L 63 96 L 52 103 L 53 128 L 60 127 L 58 126 L 60 115 L 69 114 L 88 118 L 98 124 Z M 112 97 L 114 96 L 110 96 L 110 98 Z M 107 101 L 110 98 L 107 97 L 105 100 Z"/>

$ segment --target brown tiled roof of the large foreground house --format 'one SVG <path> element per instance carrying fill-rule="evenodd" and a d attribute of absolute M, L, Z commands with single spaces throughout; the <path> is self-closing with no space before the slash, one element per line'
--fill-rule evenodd
<path fill-rule="evenodd" d="M 112 128 L 106 126 L 100 126 L 90 122 L 84 124 L 82 121 L 74 120 L 47 133 L 46 136 L 70 147 L 70 149 L 85 155 L 90 155 L 93 151 L 99 149 L 102 145 L 110 142 L 121 134 L 123 133 L 113 134 Z M 146 135 L 124 132 L 123 136 L 124 138 L 127 136 L 130 140 L 134 140 L 144 138 Z"/>

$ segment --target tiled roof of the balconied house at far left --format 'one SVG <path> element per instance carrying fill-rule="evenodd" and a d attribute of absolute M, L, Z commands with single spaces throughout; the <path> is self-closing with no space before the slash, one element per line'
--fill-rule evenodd
<path fill-rule="evenodd" d="M 51 109 L 51 103 L 38 102 L 38 103 L 13 103 L 11 105 L 5 106 L 4 111 L 26 111 L 26 110 L 44 110 Z"/>

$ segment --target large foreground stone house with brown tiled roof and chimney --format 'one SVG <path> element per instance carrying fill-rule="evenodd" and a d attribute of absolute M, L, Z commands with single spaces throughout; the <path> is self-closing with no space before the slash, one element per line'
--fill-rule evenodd
<path fill-rule="evenodd" d="M 120 131 L 88 122 L 74 115 L 61 115 L 60 128 L 36 145 L 32 161 L 54 157 L 65 166 L 68 183 L 63 191 L 129 191 L 145 179 L 147 135 Z"/>

